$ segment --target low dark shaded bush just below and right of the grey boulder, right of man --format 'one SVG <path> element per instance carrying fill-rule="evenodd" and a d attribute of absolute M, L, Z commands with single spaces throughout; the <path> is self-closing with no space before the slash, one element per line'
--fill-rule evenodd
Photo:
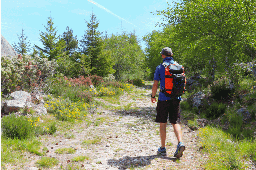
<path fill-rule="evenodd" d="M 226 105 L 222 103 L 212 103 L 205 111 L 205 116 L 208 119 L 216 119 L 226 111 Z"/>

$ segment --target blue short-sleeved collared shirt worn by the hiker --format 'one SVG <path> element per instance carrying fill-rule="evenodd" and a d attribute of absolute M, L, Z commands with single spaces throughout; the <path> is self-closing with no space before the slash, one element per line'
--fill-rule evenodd
<path fill-rule="evenodd" d="M 173 61 L 172 57 L 166 57 L 163 59 L 163 62 L 166 63 L 167 65 L 171 63 L 175 63 Z M 164 81 L 164 76 L 165 76 L 165 67 L 160 64 L 156 67 L 156 71 L 154 74 L 154 80 L 160 81 L 160 89 L 163 89 L 165 87 L 165 81 Z M 159 92 L 158 100 L 173 100 L 172 97 L 167 97 L 164 93 Z M 177 97 L 176 100 L 182 100 L 181 97 Z"/>

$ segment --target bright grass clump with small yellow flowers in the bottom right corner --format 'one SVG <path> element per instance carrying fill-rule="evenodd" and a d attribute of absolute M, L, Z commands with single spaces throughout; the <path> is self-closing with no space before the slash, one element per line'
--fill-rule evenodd
<path fill-rule="evenodd" d="M 209 155 L 205 164 L 209 170 L 243 170 L 250 166 L 246 162 L 256 161 L 255 140 L 235 140 L 221 129 L 205 127 L 199 129 L 200 146 Z M 233 143 L 228 142 L 232 140 Z"/>

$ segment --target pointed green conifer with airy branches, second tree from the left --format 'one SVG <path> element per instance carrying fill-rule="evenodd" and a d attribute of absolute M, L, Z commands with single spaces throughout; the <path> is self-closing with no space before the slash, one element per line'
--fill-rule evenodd
<path fill-rule="evenodd" d="M 45 32 L 41 31 L 39 37 L 39 40 L 43 43 L 43 48 L 35 45 L 39 50 L 39 55 L 49 60 L 58 59 L 68 53 L 68 51 L 64 51 L 66 47 L 65 40 L 60 39 L 60 35 L 57 35 L 57 27 L 53 27 L 53 24 L 53 18 L 48 17 L 47 26 L 44 26 Z"/>

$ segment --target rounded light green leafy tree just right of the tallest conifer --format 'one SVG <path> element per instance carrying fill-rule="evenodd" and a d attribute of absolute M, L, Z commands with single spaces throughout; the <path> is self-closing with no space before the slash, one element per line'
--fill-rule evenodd
<path fill-rule="evenodd" d="M 122 35 L 112 34 L 105 40 L 105 43 L 105 49 L 111 51 L 114 75 L 118 80 L 131 78 L 130 75 L 141 70 L 145 55 L 135 32 L 130 34 L 123 32 Z"/>

